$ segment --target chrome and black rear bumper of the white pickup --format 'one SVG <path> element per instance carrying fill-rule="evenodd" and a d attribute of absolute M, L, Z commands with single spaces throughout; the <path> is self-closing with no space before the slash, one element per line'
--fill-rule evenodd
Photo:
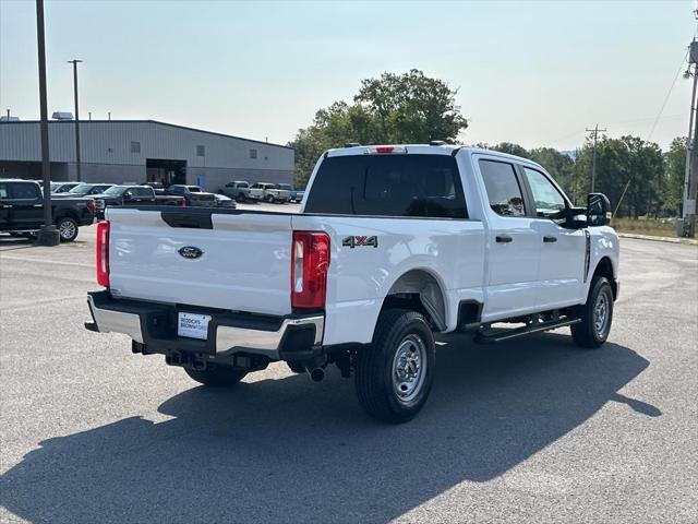
<path fill-rule="evenodd" d="M 325 317 L 268 317 L 208 310 L 140 300 L 115 299 L 108 290 L 87 295 L 94 325 L 92 331 L 123 333 L 145 344 L 149 353 L 185 352 L 209 358 L 237 353 L 264 355 L 272 360 L 306 358 L 320 352 Z M 209 314 L 206 341 L 177 334 L 178 312 Z"/>

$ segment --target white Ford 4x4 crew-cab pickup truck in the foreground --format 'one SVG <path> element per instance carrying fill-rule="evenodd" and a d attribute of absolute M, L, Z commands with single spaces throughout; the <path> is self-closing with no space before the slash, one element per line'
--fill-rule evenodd
<path fill-rule="evenodd" d="M 609 201 L 574 207 L 530 160 L 469 147 L 351 146 L 317 162 L 300 214 L 109 207 L 96 332 L 215 386 L 285 360 L 356 378 L 372 416 L 424 405 L 434 334 L 494 343 L 570 326 L 601 346 L 618 296 Z M 502 323 L 519 324 L 503 326 Z"/>

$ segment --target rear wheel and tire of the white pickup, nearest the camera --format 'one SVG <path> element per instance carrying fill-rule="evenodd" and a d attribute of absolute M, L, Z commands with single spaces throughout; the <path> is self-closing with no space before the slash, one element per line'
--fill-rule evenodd
<path fill-rule="evenodd" d="M 385 422 L 412 419 L 429 397 L 435 364 L 434 336 L 426 319 L 405 309 L 383 311 L 372 344 L 357 356 L 361 407 Z"/>

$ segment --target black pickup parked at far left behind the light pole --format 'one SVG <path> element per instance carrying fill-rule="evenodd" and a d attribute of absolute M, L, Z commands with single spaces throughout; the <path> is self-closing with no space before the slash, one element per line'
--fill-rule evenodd
<path fill-rule="evenodd" d="M 61 241 L 72 242 L 80 226 L 95 219 L 92 199 L 51 200 L 53 224 Z M 32 236 L 44 226 L 41 187 L 31 180 L 0 179 L 0 233 Z"/>

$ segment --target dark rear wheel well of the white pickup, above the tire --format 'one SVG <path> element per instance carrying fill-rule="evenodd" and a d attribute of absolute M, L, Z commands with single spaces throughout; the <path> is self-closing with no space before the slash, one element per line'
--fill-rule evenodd
<path fill-rule="evenodd" d="M 381 310 L 390 308 L 419 311 L 434 331 L 446 330 L 446 301 L 438 282 L 426 271 L 408 271 L 393 284 Z"/>

